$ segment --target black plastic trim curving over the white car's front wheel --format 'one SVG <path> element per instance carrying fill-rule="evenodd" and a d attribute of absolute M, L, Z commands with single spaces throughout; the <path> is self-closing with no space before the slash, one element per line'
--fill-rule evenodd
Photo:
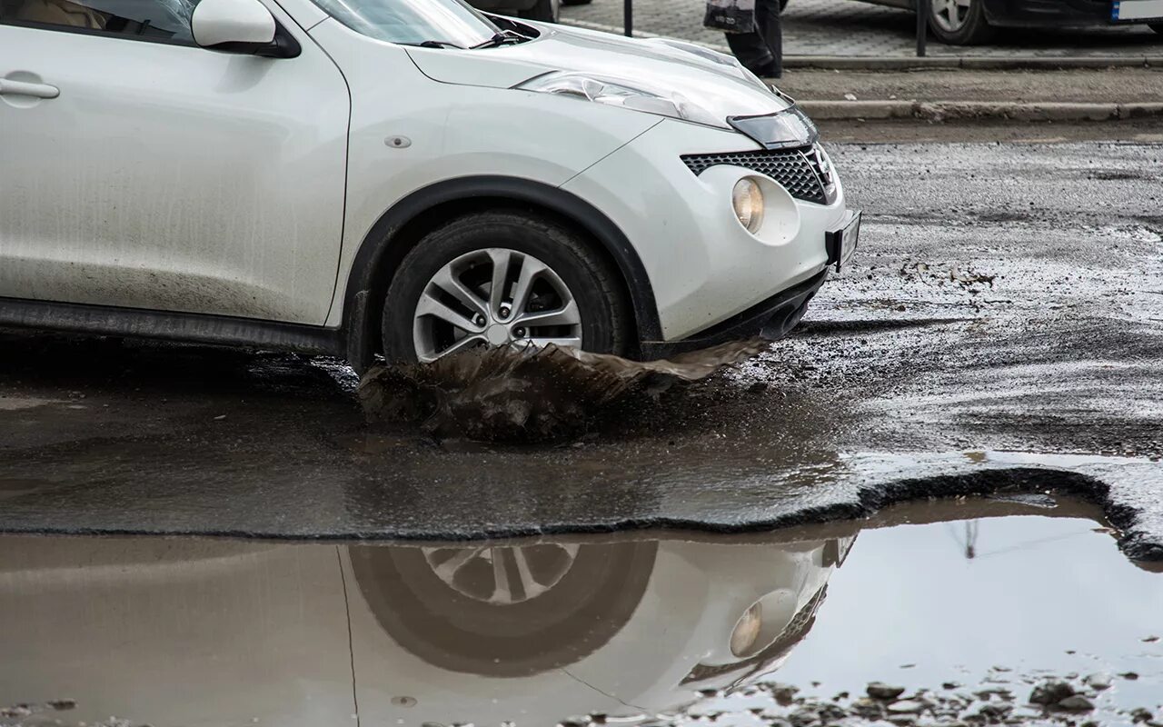
<path fill-rule="evenodd" d="M 418 190 L 385 212 L 372 226 L 356 252 L 344 290 L 343 318 L 348 361 L 357 371 L 371 365 L 377 335 L 369 335 L 369 323 L 379 314 L 374 299 L 369 300 L 378 273 L 390 257 L 397 235 L 413 220 L 440 205 L 473 199 L 504 199 L 548 209 L 578 223 L 601 243 L 614 259 L 630 294 L 637 340 L 662 337 L 658 306 L 645 266 L 629 240 L 609 218 L 585 200 L 538 181 L 514 177 L 462 177 Z M 361 298 L 362 295 L 362 298 Z"/>

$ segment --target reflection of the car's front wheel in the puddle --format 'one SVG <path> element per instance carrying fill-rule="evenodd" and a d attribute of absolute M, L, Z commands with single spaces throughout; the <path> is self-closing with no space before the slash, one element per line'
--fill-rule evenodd
<path fill-rule="evenodd" d="M 645 593 L 657 542 L 408 548 L 354 546 L 380 627 L 429 664 L 521 677 L 609 642 Z"/>

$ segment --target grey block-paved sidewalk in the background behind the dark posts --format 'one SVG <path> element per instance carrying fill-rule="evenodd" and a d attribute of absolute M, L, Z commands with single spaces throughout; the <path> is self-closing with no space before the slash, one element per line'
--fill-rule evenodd
<path fill-rule="evenodd" d="M 721 33 L 702 28 L 704 0 L 634 0 L 635 35 L 664 35 L 726 50 Z M 784 12 L 784 55 L 855 58 L 913 57 L 915 16 L 906 10 L 856 0 L 789 0 Z M 621 0 L 592 0 L 565 6 L 562 22 L 598 30 L 622 31 Z M 943 45 L 932 37 L 933 57 L 1113 57 L 1135 59 L 1163 56 L 1163 35 L 1143 27 L 1090 30 L 1016 30 L 993 45 Z"/>

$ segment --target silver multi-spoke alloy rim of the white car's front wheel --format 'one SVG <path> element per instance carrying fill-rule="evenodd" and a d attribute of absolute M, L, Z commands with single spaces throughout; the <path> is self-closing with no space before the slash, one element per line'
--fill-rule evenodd
<path fill-rule="evenodd" d="M 434 275 L 413 319 L 423 363 L 472 348 L 582 348 L 582 313 L 565 281 L 540 259 L 507 248 L 462 255 Z"/>

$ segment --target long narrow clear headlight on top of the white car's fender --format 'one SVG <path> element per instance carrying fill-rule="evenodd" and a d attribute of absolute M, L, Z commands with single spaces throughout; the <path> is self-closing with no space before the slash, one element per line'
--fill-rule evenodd
<path fill-rule="evenodd" d="M 649 84 L 615 78 L 599 78 L 588 73 L 554 71 L 516 86 L 523 91 L 557 93 L 595 104 L 621 106 L 648 114 L 693 121 L 711 127 L 729 129 L 725 119 L 691 101 L 682 93 L 652 88 Z"/>

